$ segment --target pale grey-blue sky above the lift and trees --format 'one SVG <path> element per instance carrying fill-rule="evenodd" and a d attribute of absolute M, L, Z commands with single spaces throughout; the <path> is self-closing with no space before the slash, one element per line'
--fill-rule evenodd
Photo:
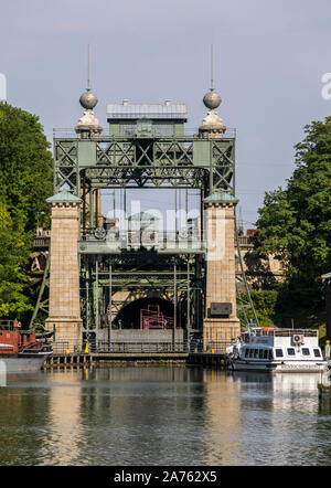
<path fill-rule="evenodd" d="M 237 130 L 238 214 L 250 229 L 265 192 L 290 178 L 303 127 L 331 115 L 330 24 L 330 0 L 0 0 L 0 73 L 8 103 L 38 115 L 52 141 L 53 128 L 83 115 L 90 44 L 103 127 L 106 105 L 127 98 L 185 103 L 191 129 L 206 115 L 213 44 L 217 113 Z"/>

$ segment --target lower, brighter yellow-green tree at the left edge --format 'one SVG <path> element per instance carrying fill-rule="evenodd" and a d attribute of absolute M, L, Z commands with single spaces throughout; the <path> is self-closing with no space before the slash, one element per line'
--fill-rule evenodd
<path fill-rule="evenodd" d="M 0 317 L 13 319 L 32 309 L 24 293 L 28 259 L 22 227 L 13 227 L 10 213 L 0 204 Z"/>

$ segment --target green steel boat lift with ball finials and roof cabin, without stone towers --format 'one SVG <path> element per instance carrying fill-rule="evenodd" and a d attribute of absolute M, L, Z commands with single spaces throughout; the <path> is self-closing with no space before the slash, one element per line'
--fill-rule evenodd
<path fill-rule="evenodd" d="M 215 95 L 213 89 L 210 94 Z M 184 104 L 167 100 L 141 105 L 124 100 L 107 106 L 109 127 L 105 132 L 93 113 L 96 102 L 94 98 L 88 102 L 88 95 L 93 95 L 89 88 L 81 97 L 86 112 L 75 132 L 54 131 L 54 198 L 50 199 L 52 208 L 65 206 L 63 189 L 66 189 L 66 194 L 73 195 L 68 204 L 77 206 L 82 333 L 94 333 L 96 341 L 110 341 L 120 328 L 119 314 L 128 304 L 157 296 L 172 304 L 172 317 L 164 316 L 160 307 L 152 309 L 151 304 L 147 305 L 137 309 L 140 329 L 180 326 L 190 343 L 193 338 L 203 337 L 206 318 L 210 322 L 217 317 L 226 319 L 233 309 L 226 298 L 224 303 L 220 300 L 218 309 L 207 301 L 207 275 L 212 273 L 213 263 L 206 258 L 206 209 L 232 206 L 235 221 L 235 130 L 223 126 L 210 99 L 204 100 L 210 108 L 209 116 L 199 130 L 189 135 Z M 151 188 L 171 189 L 174 198 L 179 189 L 186 195 L 190 189 L 197 190 L 200 218 L 194 224 L 188 221 L 185 229 L 175 227 L 173 232 L 151 229 L 142 232 L 141 225 L 135 233 L 128 226 L 120 229 L 118 221 L 109 221 L 102 214 L 105 190 L 113 190 L 114 194 L 115 190 L 122 191 L 126 210 L 129 189 Z M 71 202 L 74 199 L 76 202 Z M 237 238 L 236 226 L 232 238 L 233 242 Z M 237 253 L 241 261 L 238 245 Z M 256 322 L 257 318 L 242 263 L 241 269 L 241 279 L 235 285 L 238 300 L 234 307 L 238 306 L 238 316 L 246 327 L 252 315 Z M 39 312 L 47 308 L 50 274 L 49 259 L 31 325 L 38 320 Z M 53 322 L 56 322 L 54 315 L 49 319 L 49 328 L 52 329 Z"/>

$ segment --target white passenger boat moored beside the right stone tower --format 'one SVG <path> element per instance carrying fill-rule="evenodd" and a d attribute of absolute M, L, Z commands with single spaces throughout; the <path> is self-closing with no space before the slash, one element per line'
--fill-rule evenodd
<path fill-rule="evenodd" d="M 317 330 L 250 327 L 226 352 L 234 371 L 312 373 L 328 369 Z"/>

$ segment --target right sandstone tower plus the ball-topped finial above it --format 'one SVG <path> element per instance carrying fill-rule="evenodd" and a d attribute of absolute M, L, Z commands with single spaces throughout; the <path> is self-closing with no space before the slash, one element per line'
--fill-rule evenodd
<path fill-rule="evenodd" d="M 222 139 L 226 127 L 215 108 L 221 97 L 211 91 L 203 102 L 210 109 L 199 129 L 201 138 Z M 229 343 L 239 335 L 236 315 L 235 206 L 238 200 L 218 190 L 204 199 L 206 222 L 206 295 L 203 320 L 204 349 Z"/>

